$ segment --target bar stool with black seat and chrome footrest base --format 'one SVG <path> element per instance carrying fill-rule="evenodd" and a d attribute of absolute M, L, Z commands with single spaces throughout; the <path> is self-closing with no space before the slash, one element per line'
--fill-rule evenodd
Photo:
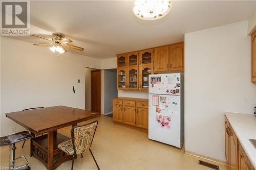
<path fill-rule="evenodd" d="M 31 139 L 33 138 L 33 136 L 31 136 L 31 134 L 28 131 L 23 131 L 23 132 L 19 132 L 19 133 L 15 133 L 12 135 L 8 135 L 8 136 L 4 136 L 4 137 L 0 137 L 0 147 L 4 147 L 6 145 L 10 145 L 10 153 L 9 153 L 9 167 L 11 169 L 30 169 L 30 167 L 28 166 L 29 162 L 27 161 L 27 159 L 25 158 L 25 156 L 20 156 L 18 158 L 15 158 L 15 143 L 22 141 L 22 140 L 26 140 L 26 139 Z M 15 167 L 15 160 L 20 159 L 20 158 L 24 158 L 26 161 L 25 165 L 21 165 L 21 166 L 17 166 Z"/>

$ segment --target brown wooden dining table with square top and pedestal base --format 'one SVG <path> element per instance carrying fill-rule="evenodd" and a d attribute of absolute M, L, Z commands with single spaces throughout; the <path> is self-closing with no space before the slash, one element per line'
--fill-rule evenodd
<path fill-rule="evenodd" d="M 77 123 L 100 116 L 98 112 L 66 106 L 6 113 L 6 116 L 26 128 L 34 137 L 30 139 L 30 156 L 39 159 L 49 170 L 71 160 L 72 156 L 58 149 L 58 144 L 70 138 L 57 133 L 57 129 L 76 126 Z"/>

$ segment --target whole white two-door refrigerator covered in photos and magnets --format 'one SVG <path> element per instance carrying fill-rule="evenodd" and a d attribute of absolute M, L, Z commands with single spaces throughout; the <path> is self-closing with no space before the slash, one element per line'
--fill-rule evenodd
<path fill-rule="evenodd" d="M 148 138 L 181 148 L 184 143 L 184 74 L 150 75 Z"/>

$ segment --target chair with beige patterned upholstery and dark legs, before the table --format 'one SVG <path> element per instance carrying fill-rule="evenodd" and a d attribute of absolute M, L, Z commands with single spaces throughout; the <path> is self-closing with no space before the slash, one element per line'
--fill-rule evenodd
<path fill-rule="evenodd" d="M 91 151 L 91 145 L 93 142 L 94 134 L 98 126 L 98 121 L 86 125 L 75 126 L 71 129 L 71 139 L 58 144 L 58 148 L 68 155 L 72 155 L 72 167 L 74 164 L 75 155 L 82 154 L 83 152 L 90 151 L 95 164 L 98 166 L 93 153 Z"/>

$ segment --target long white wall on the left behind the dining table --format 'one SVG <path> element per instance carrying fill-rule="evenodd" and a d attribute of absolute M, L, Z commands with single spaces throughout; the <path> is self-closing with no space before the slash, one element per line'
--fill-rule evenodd
<path fill-rule="evenodd" d="M 57 57 L 47 47 L 1 37 L 1 136 L 14 126 L 23 129 L 5 117 L 8 112 L 56 105 L 84 109 L 84 67 L 100 69 L 101 60 L 73 53 Z"/>

